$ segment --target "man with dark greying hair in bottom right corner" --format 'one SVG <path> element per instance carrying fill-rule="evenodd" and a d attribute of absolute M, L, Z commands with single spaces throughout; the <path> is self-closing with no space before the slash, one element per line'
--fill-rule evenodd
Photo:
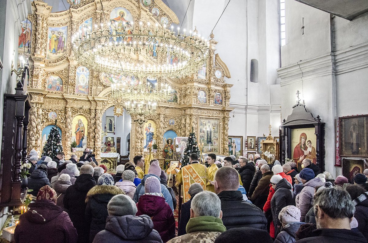
<path fill-rule="evenodd" d="M 313 207 L 317 229 L 297 242 L 367 242 L 361 232 L 350 228 L 355 207 L 347 191 L 340 188 L 321 190 L 314 196 Z"/>

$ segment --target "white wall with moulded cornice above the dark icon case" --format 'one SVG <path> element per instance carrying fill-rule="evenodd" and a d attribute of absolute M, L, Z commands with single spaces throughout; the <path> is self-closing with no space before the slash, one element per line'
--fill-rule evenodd
<path fill-rule="evenodd" d="M 326 123 L 325 168 L 335 176 L 341 174 L 341 167 L 334 166 L 338 117 L 368 113 L 361 105 L 368 99 L 367 26 L 367 15 L 353 21 L 335 17 L 330 24 L 330 14 L 286 0 L 287 44 L 282 47 L 279 69 L 282 119 L 290 115 L 299 90 L 307 110 Z M 332 47 L 330 28 L 334 30 Z"/>

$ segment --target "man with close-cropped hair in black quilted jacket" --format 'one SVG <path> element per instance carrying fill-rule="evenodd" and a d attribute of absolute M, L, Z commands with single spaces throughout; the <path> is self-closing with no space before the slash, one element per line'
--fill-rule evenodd
<path fill-rule="evenodd" d="M 251 227 L 266 230 L 267 219 L 262 210 L 243 200 L 237 191 L 239 177 L 237 171 L 225 166 L 215 174 L 215 192 L 221 200 L 222 222 L 226 229 Z"/>

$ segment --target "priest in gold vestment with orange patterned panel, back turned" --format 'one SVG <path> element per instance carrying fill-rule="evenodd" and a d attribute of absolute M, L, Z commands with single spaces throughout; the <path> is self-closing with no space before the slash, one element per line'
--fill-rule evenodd
<path fill-rule="evenodd" d="M 191 184 L 198 182 L 206 190 L 208 183 L 207 167 L 198 163 L 198 155 L 196 153 L 190 155 L 189 162 L 190 164 L 182 167 L 176 175 L 176 185 L 183 185 L 183 203 L 190 200 L 188 190 Z"/>

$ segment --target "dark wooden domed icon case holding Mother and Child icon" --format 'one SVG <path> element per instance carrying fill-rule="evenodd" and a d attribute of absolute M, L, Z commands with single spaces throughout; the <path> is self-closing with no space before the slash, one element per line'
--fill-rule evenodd
<path fill-rule="evenodd" d="M 280 162 L 289 158 L 297 163 L 310 159 L 325 171 L 325 123 L 307 111 L 304 104 L 293 106 L 293 112 L 283 120 L 280 137 Z"/>

